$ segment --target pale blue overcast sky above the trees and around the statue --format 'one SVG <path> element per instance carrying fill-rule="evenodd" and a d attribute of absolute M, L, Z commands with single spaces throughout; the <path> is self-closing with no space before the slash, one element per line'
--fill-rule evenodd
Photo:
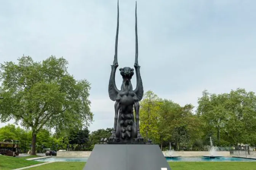
<path fill-rule="evenodd" d="M 256 91 L 256 1 L 138 0 L 139 65 L 144 90 L 181 105 L 207 89 Z M 120 0 L 119 67 L 133 66 L 134 0 Z M 24 55 L 69 61 L 91 83 L 90 131 L 111 128 L 108 97 L 117 0 L 0 0 L 0 63 Z M 117 86 L 122 79 L 117 73 Z M 135 78 L 135 77 L 134 77 Z M 136 79 L 133 79 L 133 86 Z M 12 121 L 11 121 L 12 122 Z M 0 127 L 6 123 L 0 122 Z"/>

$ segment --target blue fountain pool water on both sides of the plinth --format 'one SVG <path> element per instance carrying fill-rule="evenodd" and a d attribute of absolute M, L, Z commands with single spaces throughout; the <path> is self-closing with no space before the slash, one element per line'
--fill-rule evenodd
<path fill-rule="evenodd" d="M 37 159 L 35 161 L 40 162 L 86 162 L 88 157 L 48 157 L 43 159 Z M 220 157 L 215 159 L 209 159 L 207 157 L 178 157 L 178 158 L 168 158 L 166 161 L 256 161 L 256 159 L 245 159 L 237 157 Z"/>

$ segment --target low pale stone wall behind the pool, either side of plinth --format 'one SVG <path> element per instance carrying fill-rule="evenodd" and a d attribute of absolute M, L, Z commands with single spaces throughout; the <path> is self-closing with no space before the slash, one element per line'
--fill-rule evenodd
<path fill-rule="evenodd" d="M 89 157 L 90 154 L 91 154 L 91 151 L 60 151 L 60 152 L 57 152 L 58 157 Z M 183 156 L 183 157 L 193 157 L 193 156 L 209 155 L 209 152 L 207 152 L 207 151 L 176 151 L 174 154 L 178 155 L 178 156 Z M 163 151 L 163 155 L 170 156 L 170 152 Z M 229 151 L 216 151 L 216 155 L 230 157 Z"/>

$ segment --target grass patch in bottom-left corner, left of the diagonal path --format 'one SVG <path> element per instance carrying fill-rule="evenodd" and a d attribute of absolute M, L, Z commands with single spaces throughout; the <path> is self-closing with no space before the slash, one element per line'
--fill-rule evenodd
<path fill-rule="evenodd" d="M 0 170 L 11 170 L 15 168 L 27 167 L 40 164 L 38 161 L 27 161 L 26 159 L 37 156 L 13 157 L 0 155 Z"/>

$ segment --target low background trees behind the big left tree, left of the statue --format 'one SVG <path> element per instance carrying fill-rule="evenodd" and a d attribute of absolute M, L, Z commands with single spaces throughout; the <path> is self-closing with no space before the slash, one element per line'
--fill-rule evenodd
<path fill-rule="evenodd" d="M 37 134 L 35 151 L 37 153 L 50 150 L 91 151 L 102 137 L 110 137 L 113 128 L 98 129 L 90 132 L 87 128 L 73 129 L 67 135 L 53 133 L 47 129 L 41 129 Z M 8 124 L 0 128 L 0 142 L 6 139 L 18 140 L 21 153 L 31 151 L 32 131 L 27 131 L 14 124 Z"/>

